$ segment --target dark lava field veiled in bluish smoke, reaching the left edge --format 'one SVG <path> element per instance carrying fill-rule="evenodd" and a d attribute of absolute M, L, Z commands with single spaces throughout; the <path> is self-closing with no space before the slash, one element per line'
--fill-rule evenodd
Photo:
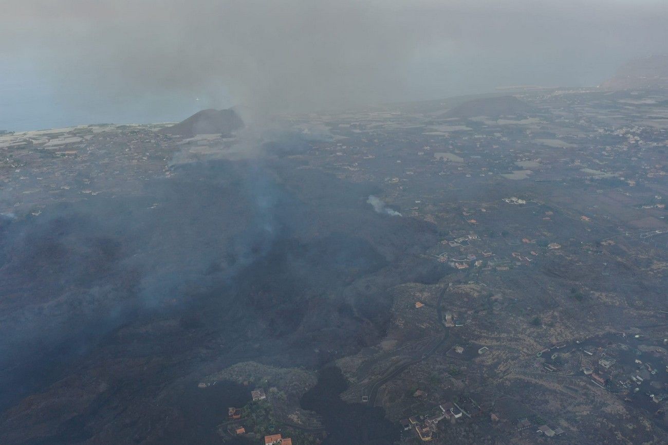
<path fill-rule="evenodd" d="M 374 212 L 378 191 L 270 154 L 178 164 L 130 195 L 5 218 L 7 443 L 159 441 L 155 398 L 178 378 L 248 359 L 317 368 L 377 343 L 385 289 L 444 274 L 418 257 L 434 229 Z M 105 429 L 109 416 L 139 420 Z"/>

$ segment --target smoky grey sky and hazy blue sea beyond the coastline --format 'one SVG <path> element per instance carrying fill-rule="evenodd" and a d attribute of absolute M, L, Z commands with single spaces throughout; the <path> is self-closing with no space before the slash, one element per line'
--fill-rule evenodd
<path fill-rule="evenodd" d="M 668 52 L 666 0 L 2 4 L 0 130 L 593 86 Z"/>

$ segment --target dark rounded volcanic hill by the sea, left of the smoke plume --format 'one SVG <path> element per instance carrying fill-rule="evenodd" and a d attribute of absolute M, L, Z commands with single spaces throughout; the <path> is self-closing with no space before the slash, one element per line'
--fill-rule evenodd
<path fill-rule="evenodd" d="M 161 133 L 178 136 L 195 136 L 196 134 L 230 134 L 243 128 L 244 122 L 234 110 L 202 110 L 190 118 L 162 128 Z"/>

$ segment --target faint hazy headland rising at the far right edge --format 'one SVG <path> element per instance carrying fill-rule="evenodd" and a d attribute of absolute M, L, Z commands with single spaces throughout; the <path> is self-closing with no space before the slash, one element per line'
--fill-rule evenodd
<path fill-rule="evenodd" d="M 668 88 L 668 55 L 653 55 L 628 61 L 615 76 L 601 84 L 607 90 Z"/>

